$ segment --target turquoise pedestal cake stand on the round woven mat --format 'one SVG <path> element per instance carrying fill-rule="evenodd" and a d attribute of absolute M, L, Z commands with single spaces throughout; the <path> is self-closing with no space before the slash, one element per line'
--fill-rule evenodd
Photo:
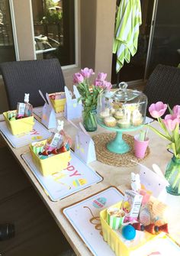
<path fill-rule="evenodd" d="M 123 132 L 136 131 L 140 128 L 143 128 L 143 125 L 139 125 L 139 126 L 130 126 L 130 128 L 121 129 L 117 125 L 114 127 L 108 127 L 104 125 L 104 123 L 100 119 L 98 119 L 97 121 L 98 121 L 98 125 L 100 125 L 101 127 L 104 127 L 110 131 L 116 131 L 116 137 L 114 138 L 113 141 L 108 142 L 107 148 L 108 148 L 108 151 L 111 151 L 117 154 L 124 154 L 130 151 L 130 146 L 124 141 L 122 137 Z"/>

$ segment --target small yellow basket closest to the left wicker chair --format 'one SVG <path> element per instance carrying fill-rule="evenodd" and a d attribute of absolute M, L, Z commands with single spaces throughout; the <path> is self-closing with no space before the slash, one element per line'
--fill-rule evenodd
<path fill-rule="evenodd" d="M 27 118 L 21 118 L 10 121 L 8 119 L 8 112 L 4 112 L 3 115 L 5 118 L 6 125 L 8 126 L 8 129 L 9 131 L 11 131 L 11 134 L 18 135 L 33 130 L 34 116 L 29 116 Z"/>

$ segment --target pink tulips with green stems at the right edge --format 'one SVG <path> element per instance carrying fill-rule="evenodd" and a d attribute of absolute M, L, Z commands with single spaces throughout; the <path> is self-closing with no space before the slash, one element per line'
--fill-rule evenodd
<path fill-rule="evenodd" d="M 162 115 L 165 114 L 167 109 L 169 109 L 169 115 L 162 118 Z M 155 131 L 156 134 L 170 141 L 168 148 L 172 149 L 175 157 L 180 159 L 180 105 L 175 105 L 173 109 L 170 109 L 167 104 L 156 102 L 149 106 L 149 113 L 153 118 L 157 118 L 162 132 L 152 126 L 149 127 Z"/>

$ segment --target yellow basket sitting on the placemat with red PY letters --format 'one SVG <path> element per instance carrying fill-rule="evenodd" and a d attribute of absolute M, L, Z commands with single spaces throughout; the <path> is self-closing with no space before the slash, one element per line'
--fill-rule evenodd
<path fill-rule="evenodd" d="M 46 143 L 45 141 L 38 141 L 38 143 Z M 43 176 L 52 175 L 60 170 L 66 169 L 69 160 L 71 160 L 70 151 L 66 151 L 60 154 L 54 154 L 53 156 L 45 159 L 40 159 L 37 154 L 34 153 L 32 145 L 30 145 L 31 155 L 37 169 L 43 174 Z"/>

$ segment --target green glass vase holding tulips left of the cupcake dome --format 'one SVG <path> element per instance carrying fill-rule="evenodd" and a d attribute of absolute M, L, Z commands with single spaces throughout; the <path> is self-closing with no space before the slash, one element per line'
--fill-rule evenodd
<path fill-rule="evenodd" d="M 97 120 L 96 120 L 96 109 L 83 111 L 82 118 L 83 118 L 83 125 L 86 131 L 96 131 L 98 128 Z"/>

